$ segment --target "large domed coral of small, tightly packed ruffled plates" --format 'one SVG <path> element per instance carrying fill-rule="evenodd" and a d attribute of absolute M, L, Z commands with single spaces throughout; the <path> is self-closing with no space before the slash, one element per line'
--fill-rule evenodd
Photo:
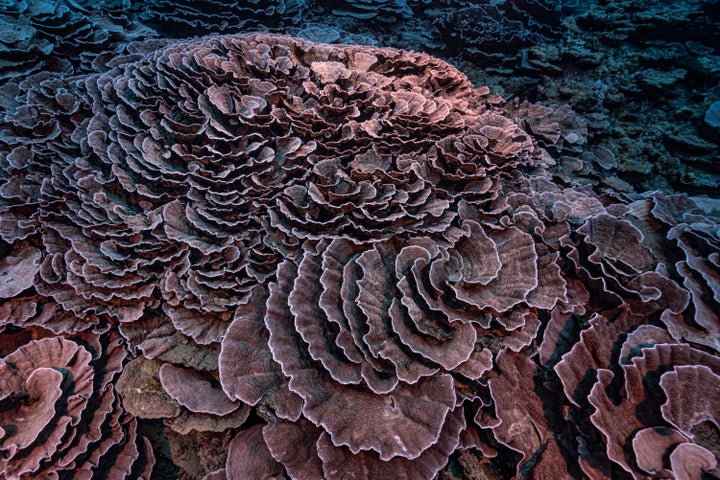
<path fill-rule="evenodd" d="M 70 103 L 34 77 L 5 120 L 3 238 L 41 237 L 36 288 L 80 317 L 137 321 L 159 294 L 218 342 L 300 240 L 444 231 L 544 158 L 426 55 L 257 34 L 116 63 Z"/>

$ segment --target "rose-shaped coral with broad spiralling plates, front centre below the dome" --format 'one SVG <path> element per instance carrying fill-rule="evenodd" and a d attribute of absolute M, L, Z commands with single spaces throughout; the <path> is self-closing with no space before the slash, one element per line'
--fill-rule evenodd
<path fill-rule="evenodd" d="M 231 398 L 314 424 L 327 478 L 340 478 L 340 462 L 345 472 L 358 462 L 355 475 L 403 465 L 408 478 L 429 478 L 424 462 L 407 460 L 431 455 L 447 428 L 459 434 L 447 423 L 463 410 L 456 397 L 492 368 L 494 353 L 532 341 L 539 321 L 529 308 L 564 298 L 552 269 L 543 289 L 557 290 L 538 294 L 538 263 L 531 235 L 473 220 L 439 238 L 306 243 L 299 263 L 283 262 L 269 291 L 238 310 L 222 343 L 221 383 Z M 265 353 L 247 348 L 264 342 Z M 447 461 L 431 458 L 432 472 Z"/>

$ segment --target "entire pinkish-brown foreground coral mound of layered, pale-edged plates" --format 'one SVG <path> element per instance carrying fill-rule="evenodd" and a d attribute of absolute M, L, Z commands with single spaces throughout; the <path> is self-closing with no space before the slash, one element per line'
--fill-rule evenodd
<path fill-rule="evenodd" d="M 559 189 L 524 110 L 427 55 L 133 51 L 3 107 L 5 478 L 716 468 L 691 200 Z"/>

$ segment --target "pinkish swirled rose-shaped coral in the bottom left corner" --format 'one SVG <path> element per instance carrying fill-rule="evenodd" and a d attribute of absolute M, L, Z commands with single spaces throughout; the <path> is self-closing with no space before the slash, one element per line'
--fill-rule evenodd
<path fill-rule="evenodd" d="M 33 323 L 35 306 L 5 303 L 5 326 Z M 127 354 L 117 334 L 11 331 L 3 350 L 17 348 L 0 352 L 0 476 L 150 478 L 150 442 L 137 435 L 113 388 Z"/>

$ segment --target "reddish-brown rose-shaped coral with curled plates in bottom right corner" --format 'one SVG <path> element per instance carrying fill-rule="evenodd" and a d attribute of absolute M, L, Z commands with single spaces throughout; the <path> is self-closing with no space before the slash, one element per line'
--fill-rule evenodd
<path fill-rule="evenodd" d="M 567 398 L 592 409 L 590 424 L 577 419 L 581 441 L 604 444 L 581 445 L 580 466 L 588 476 L 607 476 L 611 462 L 634 478 L 717 474 L 720 359 L 642 322 L 628 311 L 612 321 L 594 317 L 555 366 Z"/>

